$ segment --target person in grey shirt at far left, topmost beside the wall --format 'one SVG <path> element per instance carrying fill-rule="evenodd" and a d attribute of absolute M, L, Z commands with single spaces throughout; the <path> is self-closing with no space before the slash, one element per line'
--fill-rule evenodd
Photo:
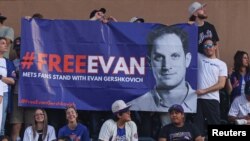
<path fill-rule="evenodd" d="M 3 16 L 0 13 L 0 37 L 6 38 L 7 41 L 7 51 L 4 53 L 5 58 L 9 58 L 10 50 L 11 50 L 11 44 L 14 40 L 14 30 L 13 28 L 4 25 L 4 21 L 7 19 L 7 17 Z"/>

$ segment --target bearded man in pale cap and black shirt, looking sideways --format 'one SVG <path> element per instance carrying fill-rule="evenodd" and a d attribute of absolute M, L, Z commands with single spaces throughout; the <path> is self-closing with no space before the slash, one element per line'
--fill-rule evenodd
<path fill-rule="evenodd" d="M 205 21 L 207 15 L 205 13 L 204 7 L 206 4 L 200 4 L 199 2 L 193 2 L 189 8 L 189 21 L 195 23 L 198 26 L 198 51 L 204 54 L 202 42 L 205 38 L 212 38 L 216 41 L 216 56 L 219 58 L 218 41 L 219 37 L 213 24 Z"/>

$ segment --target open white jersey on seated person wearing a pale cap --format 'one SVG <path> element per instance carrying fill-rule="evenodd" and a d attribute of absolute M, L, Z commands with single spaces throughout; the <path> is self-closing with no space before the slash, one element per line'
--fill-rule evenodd
<path fill-rule="evenodd" d="M 138 141 L 137 126 L 133 121 L 125 123 L 126 141 Z M 116 141 L 117 122 L 112 119 L 105 121 L 99 133 L 99 140 Z"/>

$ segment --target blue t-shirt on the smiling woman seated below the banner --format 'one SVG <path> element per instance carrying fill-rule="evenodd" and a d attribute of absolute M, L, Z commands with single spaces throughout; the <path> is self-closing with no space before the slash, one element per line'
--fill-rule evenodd
<path fill-rule="evenodd" d="M 74 130 L 65 125 L 58 132 L 58 137 L 63 136 L 70 137 L 71 141 L 89 141 L 89 130 L 81 123 L 78 123 Z"/>

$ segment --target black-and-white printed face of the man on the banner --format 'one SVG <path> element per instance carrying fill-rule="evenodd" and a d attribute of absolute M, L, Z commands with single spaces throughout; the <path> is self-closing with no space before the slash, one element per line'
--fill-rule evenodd
<path fill-rule="evenodd" d="M 183 44 L 176 34 L 165 34 L 154 41 L 151 65 L 157 88 L 171 89 L 184 82 L 189 63 L 186 63 Z"/>

